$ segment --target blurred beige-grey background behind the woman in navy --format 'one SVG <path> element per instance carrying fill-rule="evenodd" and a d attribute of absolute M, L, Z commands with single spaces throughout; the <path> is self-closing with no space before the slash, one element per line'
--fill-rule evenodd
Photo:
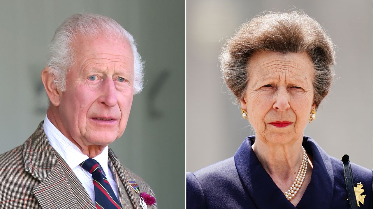
<path fill-rule="evenodd" d="M 331 156 L 372 169 L 372 1 L 187 0 L 186 171 L 234 155 L 253 135 L 223 85 L 218 54 L 225 38 L 263 11 L 302 9 L 335 45 L 336 79 L 305 129 Z"/>

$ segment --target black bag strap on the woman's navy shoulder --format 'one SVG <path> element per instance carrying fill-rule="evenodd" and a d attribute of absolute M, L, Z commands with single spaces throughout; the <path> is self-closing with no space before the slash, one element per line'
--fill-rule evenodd
<path fill-rule="evenodd" d="M 358 209 L 357 208 L 357 201 L 355 196 L 355 190 L 354 190 L 354 182 L 352 181 L 352 170 L 350 161 L 348 160 L 350 157 L 345 154 L 342 157 L 342 163 L 343 163 L 343 173 L 345 175 L 345 184 L 346 184 L 346 190 L 347 190 L 347 196 L 348 196 L 348 202 L 350 203 L 351 209 Z"/>

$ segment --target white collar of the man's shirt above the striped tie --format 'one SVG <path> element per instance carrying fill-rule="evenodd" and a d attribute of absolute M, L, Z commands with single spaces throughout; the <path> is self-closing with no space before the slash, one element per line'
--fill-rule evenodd
<path fill-rule="evenodd" d="M 66 136 L 64 136 L 52 122 L 46 118 L 43 124 L 44 132 L 47 135 L 50 145 L 57 151 L 57 153 L 65 160 L 71 169 L 79 166 L 83 161 L 87 160 L 89 157 L 74 144 Z M 101 154 L 97 155 L 93 159 L 96 160 L 104 174 L 108 173 L 108 147 L 106 146 Z"/>

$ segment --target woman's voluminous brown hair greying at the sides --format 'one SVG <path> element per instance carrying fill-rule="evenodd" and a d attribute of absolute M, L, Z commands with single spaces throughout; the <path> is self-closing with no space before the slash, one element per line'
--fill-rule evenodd
<path fill-rule="evenodd" d="M 228 39 L 220 52 L 220 70 L 236 102 L 244 98 L 249 80 L 248 62 L 256 51 L 286 54 L 306 52 L 313 62 L 316 109 L 329 92 L 334 77 L 334 44 L 316 20 L 303 12 L 259 15 Z"/>

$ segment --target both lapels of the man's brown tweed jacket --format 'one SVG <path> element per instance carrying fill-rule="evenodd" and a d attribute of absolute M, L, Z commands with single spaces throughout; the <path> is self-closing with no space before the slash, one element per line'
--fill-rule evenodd
<path fill-rule="evenodd" d="M 34 134 L 23 144 L 23 162 L 25 171 L 40 182 L 33 191 L 43 209 L 95 208 L 68 164 L 49 144 L 43 129 L 43 121 Z M 113 170 L 117 185 L 120 184 L 119 181 L 122 181 L 125 187 L 125 191 L 121 191 L 121 186 L 118 186 L 122 208 L 139 208 L 140 194 L 135 193 L 128 183 L 135 178 L 120 164 L 119 159 L 110 148 L 109 166 Z M 74 187 L 70 185 L 74 185 Z M 79 198 L 77 198 L 78 196 Z M 128 199 L 131 200 L 132 205 L 124 206 Z"/>

